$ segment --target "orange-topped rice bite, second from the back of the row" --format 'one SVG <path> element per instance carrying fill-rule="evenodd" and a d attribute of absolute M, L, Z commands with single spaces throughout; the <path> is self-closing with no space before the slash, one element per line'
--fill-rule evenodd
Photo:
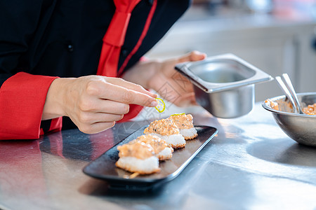
<path fill-rule="evenodd" d="M 184 137 L 180 134 L 178 127 L 171 119 L 154 120 L 144 130 L 144 134 L 152 134 L 164 139 L 174 149 L 183 148 L 186 144 Z"/>

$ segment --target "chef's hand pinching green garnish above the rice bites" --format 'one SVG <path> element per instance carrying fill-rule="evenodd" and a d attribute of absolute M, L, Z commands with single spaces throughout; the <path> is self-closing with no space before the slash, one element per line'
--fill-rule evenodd
<path fill-rule="evenodd" d="M 68 116 L 81 132 L 107 130 L 129 112 L 129 104 L 157 106 L 157 94 L 121 78 L 57 78 L 49 87 L 42 120 Z"/>

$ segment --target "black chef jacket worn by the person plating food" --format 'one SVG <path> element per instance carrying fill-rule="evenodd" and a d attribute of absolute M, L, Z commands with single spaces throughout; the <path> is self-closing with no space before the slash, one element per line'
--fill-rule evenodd
<path fill-rule="evenodd" d="M 147 35 L 124 70 L 166 34 L 189 4 L 158 0 Z M 119 67 L 136 45 L 151 6 L 142 0 L 131 13 Z M 59 77 L 96 74 L 114 10 L 110 0 L 0 1 L 0 85 L 19 71 Z"/>

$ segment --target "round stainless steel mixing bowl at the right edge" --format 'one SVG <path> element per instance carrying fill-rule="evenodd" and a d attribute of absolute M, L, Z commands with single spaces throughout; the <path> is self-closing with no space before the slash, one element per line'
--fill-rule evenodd
<path fill-rule="evenodd" d="M 272 109 L 270 102 L 263 102 L 262 106 L 272 113 L 275 122 L 284 133 L 299 144 L 316 146 L 316 116 L 294 113 L 293 107 L 285 96 L 273 97 L 269 100 L 279 104 L 279 111 Z M 302 108 L 315 104 L 316 92 L 300 93 L 298 100 Z"/>

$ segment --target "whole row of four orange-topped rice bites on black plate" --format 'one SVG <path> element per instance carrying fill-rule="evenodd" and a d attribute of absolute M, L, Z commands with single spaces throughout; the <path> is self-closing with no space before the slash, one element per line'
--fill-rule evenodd
<path fill-rule="evenodd" d="M 143 133 L 129 144 L 117 146 L 117 167 L 138 174 L 159 172 L 159 161 L 171 159 L 174 149 L 184 148 L 185 140 L 197 137 L 193 117 L 185 113 L 154 120 Z"/>

